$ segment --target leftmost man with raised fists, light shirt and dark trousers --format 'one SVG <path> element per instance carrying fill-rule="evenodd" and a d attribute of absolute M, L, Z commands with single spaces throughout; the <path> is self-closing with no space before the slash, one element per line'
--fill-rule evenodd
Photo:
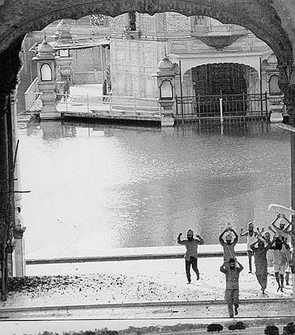
<path fill-rule="evenodd" d="M 182 233 L 178 234 L 177 243 L 185 245 L 185 272 L 187 283 L 191 283 L 190 267 L 192 266 L 193 270 L 196 272 L 197 280 L 200 279 L 199 269 L 198 269 L 198 245 L 204 244 L 204 240 L 200 235 L 196 235 L 194 238 L 194 232 L 189 229 L 186 233 L 186 239 L 181 240 Z"/>

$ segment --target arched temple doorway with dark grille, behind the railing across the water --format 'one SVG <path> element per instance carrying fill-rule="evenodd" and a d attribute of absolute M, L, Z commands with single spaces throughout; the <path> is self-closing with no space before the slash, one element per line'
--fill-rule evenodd
<path fill-rule="evenodd" d="M 222 101 L 220 99 L 222 98 Z M 258 71 L 238 63 L 208 63 L 183 74 L 177 97 L 177 120 L 267 119 L 266 94 Z"/>

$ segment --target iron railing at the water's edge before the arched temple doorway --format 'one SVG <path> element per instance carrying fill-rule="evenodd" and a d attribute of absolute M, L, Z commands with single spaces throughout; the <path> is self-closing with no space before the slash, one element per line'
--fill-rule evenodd
<path fill-rule="evenodd" d="M 176 119 L 184 121 L 267 119 L 267 94 L 176 97 Z"/>

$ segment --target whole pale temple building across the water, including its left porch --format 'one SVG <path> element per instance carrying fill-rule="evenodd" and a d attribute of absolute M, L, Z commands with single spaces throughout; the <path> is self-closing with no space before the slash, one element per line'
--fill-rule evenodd
<path fill-rule="evenodd" d="M 115 18 L 90 15 L 61 20 L 45 32 L 59 57 L 59 81 L 104 83 L 98 95 L 112 94 L 120 101 L 158 99 L 154 74 L 167 55 L 177 68 L 178 110 L 180 98 L 181 108 L 184 101 L 192 110 L 193 101 L 217 104 L 220 96 L 234 101 L 231 110 L 245 109 L 246 104 L 247 110 L 255 111 L 284 108 L 276 57 L 265 42 L 241 26 L 174 12 L 153 16 L 129 12 Z M 39 42 L 29 50 L 36 50 Z M 32 72 L 30 68 L 31 79 Z M 205 107 L 198 107 L 199 111 Z M 215 109 L 210 105 L 211 111 Z"/>

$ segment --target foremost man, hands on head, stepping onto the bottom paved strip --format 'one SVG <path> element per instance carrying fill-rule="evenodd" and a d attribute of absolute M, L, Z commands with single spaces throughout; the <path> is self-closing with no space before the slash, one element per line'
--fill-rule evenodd
<path fill-rule="evenodd" d="M 220 271 L 225 273 L 226 278 L 225 300 L 228 305 L 230 318 L 234 317 L 233 305 L 235 306 L 235 315 L 238 313 L 238 277 L 242 269 L 243 266 L 234 258 L 231 258 L 229 263 L 224 262 L 220 267 Z"/>

